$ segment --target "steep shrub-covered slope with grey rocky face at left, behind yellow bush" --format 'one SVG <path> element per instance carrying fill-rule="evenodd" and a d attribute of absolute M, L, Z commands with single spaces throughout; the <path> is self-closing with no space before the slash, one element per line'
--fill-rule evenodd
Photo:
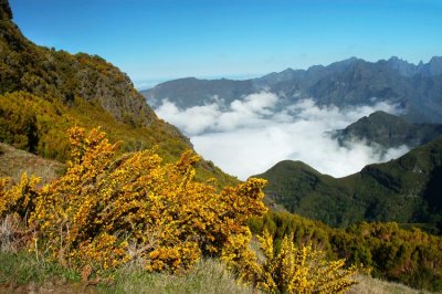
<path fill-rule="evenodd" d="M 122 151 L 158 146 L 166 160 L 175 160 L 192 148 L 117 67 L 96 55 L 35 45 L 12 22 L 7 1 L 0 17 L 0 141 L 64 161 L 67 128 L 102 126 Z M 198 169 L 201 178 L 235 181 L 211 162 Z"/>

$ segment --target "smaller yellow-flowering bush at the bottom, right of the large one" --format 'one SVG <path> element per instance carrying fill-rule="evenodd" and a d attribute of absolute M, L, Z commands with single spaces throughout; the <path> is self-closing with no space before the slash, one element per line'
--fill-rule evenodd
<path fill-rule="evenodd" d="M 296 248 L 293 234 L 285 235 L 278 252 L 273 238 L 259 237 L 265 262 L 261 264 L 257 286 L 270 293 L 344 293 L 357 282 L 356 267 L 344 269 L 345 260 L 327 261 L 325 253 L 312 246 Z"/>

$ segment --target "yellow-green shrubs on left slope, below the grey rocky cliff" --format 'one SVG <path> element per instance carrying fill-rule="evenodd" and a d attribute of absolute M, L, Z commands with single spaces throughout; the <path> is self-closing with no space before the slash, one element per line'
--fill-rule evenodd
<path fill-rule="evenodd" d="M 118 123 L 99 105 L 76 98 L 73 107 L 59 102 L 48 102 L 27 92 L 0 95 L 0 141 L 31 150 L 45 158 L 65 161 L 70 158 L 66 130 L 73 125 L 87 129 L 102 125 L 114 143 L 120 141 L 118 154 L 157 146 L 166 161 L 177 160 L 188 148 L 186 143 L 169 132 L 161 120 L 148 127 L 133 127 Z M 29 134 L 28 136 L 25 134 Z M 217 187 L 236 183 L 233 177 L 201 160 L 197 165 L 198 180 L 215 178 Z"/>

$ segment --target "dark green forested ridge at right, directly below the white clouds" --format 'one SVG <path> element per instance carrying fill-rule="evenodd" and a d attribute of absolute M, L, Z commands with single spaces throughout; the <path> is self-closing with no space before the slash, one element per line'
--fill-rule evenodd
<path fill-rule="evenodd" d="M 259 175 L 266 197 L 288 211 L 330 225 L 368 221 L 442 223 L 442 137 L 386 164 L 336 179 L 298 161 Z"/>

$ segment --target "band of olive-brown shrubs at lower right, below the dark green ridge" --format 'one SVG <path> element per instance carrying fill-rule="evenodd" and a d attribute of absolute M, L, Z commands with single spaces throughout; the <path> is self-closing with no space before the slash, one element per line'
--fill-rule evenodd
<path fill-rule="evenodd" d="M 419 229 L 404 230 L 394 222 L 360 222 L 334 229 L 323 222 L 287 212 L 267 212 L 249 221 L 253 233 L 269 231 L 275 246 L 285 235 L 303 246 L 319 249 L 329 259 L 364 264 L 371 275 L 414 288 L 442 290 L 442 238 Z M 377 293 L 377 292 L 372 292 Z"/>

